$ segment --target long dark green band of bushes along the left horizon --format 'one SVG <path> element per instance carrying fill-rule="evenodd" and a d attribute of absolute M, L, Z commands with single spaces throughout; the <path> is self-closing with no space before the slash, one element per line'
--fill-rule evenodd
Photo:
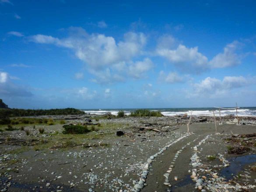
<path fill-rule="evenodd" d="M 85 112 L 75 108 L 63 109 L 0 109 L 0 117 L 2 119 L 7 117 L 22 117 L 34 115 L 83 115 Z"/>

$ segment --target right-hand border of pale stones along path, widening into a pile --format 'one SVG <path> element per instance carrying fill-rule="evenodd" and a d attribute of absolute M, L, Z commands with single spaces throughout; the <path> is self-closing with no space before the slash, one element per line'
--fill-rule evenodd
<path fill-rule="evenodd" d="M 193 156 L 191 157 L 191 161 L 192 161 L 192 166 L 195 169 L 192 170 L 192 175 L 190 177 L 194 182 L 196 182 L 195 189 L 199 189 L 202 192 L 205 192 L 206 191 L 205 189 L 212 192 L 221 191 L 221 189 L 222 191 L 226 191 L 225 189 L 227 189 L 228 187 L 228 182 L 224 182 L 225 178 L 219 177 L 217 175 L 218 174 L 217 170 L 214 170 L 211 168 L 209 169 L 200 168 L 199 170 L 196 169 L 196 167 L 203 166 L 203 164 L 200 162 L 201 161 L 200 158 L 197 156 L 197 152 L 200 153 L 202 148 L 198 150 L 198 147 L 200 147 L 202 143 L 205 143 L 205 141 L 208 140 L 210 136 L 211 135 L 207 135 L 203 140 L 200 141 L 198 145 L 193 147 L 196 153 L 193 154 Z M 228 167 L 230 164 L 229 161 L 227 161 L 222 154 L 218 154 L 218 155 L 219 155 L 218 157 L 219 160 L 222 161 L 224 165 L 215 165 L 214 168 Z M 212 178 L 207 179 L 206 176 L 200 176 L 199 171 L 201 171 L 204 174 L 210 175 Z"/>

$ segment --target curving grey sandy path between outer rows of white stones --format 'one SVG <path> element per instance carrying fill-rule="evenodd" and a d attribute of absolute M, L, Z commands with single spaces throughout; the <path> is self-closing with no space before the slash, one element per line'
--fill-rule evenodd
<path fill-rule="evenodd" d="M 152 164 L 150 174 L 153 175 L 148 176 L 147 186 L 142 190 L 142 192 L 162 192 L 167 191 L 167 189 L 181 192 L 185 190 L 193 191 L 193 182 L 190 179 L 190 174 L 188 172 L 190 169 L 190 157 L 193 155 L 193 149 L 191 149 L 191 147 L 196 145 L 199 140 L 203 139 L 203 137 L 204 135 L 188 136 L 166 150 L 165 153 Z M 190 143 L 190 145 L 187 145 L 187 143 Z M 176 152 L 181 150 L 185 145 L 186 147 L 179 154 L 176 161 L 172 161 Z M 175 162 L 175 164 L 172 164 L 172 162 Z M 171 188 L 164 185 L 165 177 L 163 176 L 170 165 L 174 165 L 169 176 L 169 182 L 172 184 Z M 175 176 L 178 177 L 178 181 L 175 181 Z M 175 186 L 179 186 L 179 188 L 176 188 Z"/>

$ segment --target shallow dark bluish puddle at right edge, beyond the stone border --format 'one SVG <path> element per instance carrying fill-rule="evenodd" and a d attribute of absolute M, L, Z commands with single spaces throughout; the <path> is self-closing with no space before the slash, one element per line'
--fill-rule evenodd
<path fill-rule="evenodd" d="M 227 180 L 232 179 L 235 175 L 238 175 L 243 170 L 243 166 L 246 164 L 252 164 L 256 162 L 256 154 L 231 157 L 228 159 L 230 166 L 221 170 L 221 176 Z M 232 175 L 233 174 L 233 175 Z"/>

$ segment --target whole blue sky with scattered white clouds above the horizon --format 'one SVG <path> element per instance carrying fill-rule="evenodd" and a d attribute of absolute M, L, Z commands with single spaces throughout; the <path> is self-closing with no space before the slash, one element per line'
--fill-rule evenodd
<path fill-rule="evenodd" d="M 256 1 L 0 0 L 11 108 L 256 106 Z"/>

